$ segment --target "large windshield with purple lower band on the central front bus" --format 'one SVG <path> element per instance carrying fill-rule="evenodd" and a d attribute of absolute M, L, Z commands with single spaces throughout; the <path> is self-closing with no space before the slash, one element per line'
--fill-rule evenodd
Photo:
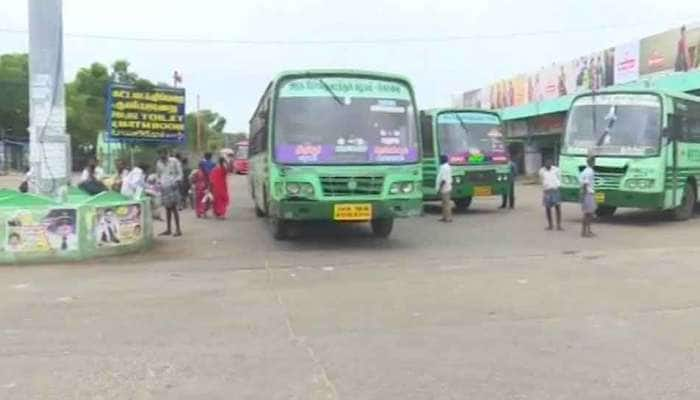
<path fill-rule="evenodd" d="M 366 78 L 286 81 L 275 103 L 274 143 L 285 164 L 417 162 L 410 90 Z"/>

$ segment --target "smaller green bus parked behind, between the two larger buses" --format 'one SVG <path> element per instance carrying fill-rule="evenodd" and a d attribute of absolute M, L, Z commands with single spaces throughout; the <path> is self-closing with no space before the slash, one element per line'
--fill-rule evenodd
<path fill-rule="evenodd" d="M 435 180 L 440 155 L 452 167 L 452 200 L 458 210 L 472 198 L 503 195 L 511 187 L 509 157 L 496 112 L 434 109 L 420 113 L 423 148 L 423 199 L 438 200 Z"/>

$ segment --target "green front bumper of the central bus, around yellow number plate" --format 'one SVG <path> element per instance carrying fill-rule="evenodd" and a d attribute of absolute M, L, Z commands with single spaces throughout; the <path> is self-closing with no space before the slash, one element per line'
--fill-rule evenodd
<path fill-rule="evenodd" d="M 336 204 L 371 204 L 372 219 L 416 217 L 421 215 L 423 207 L 421 199 L 282 200 L 271 202 L 270 214 L 285 220 L 332 221 Z"/>

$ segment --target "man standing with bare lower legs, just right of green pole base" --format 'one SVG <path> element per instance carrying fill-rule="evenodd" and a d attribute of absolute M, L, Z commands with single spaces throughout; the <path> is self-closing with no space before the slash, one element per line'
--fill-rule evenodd
<path fill-rule="evenodd" d="M 165 207 L 166 230 L 161 236 L 172 234 L 172 220 L 175 219 L 174 236 L 182 236 L 180 230 L 180 182 L 183 179 L 182 165 L 175 157 L 168 156 L 168 151 L 163 149 L 159 152 L 160 158 L 156 162 L 156 174 L 161 185 L 161 203 Z"/>

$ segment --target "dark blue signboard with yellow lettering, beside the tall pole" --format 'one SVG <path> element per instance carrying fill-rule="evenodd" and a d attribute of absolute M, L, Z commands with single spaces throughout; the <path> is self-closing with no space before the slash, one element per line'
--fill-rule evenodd
<path fill-rule="evenodd" d="M 185 89 L 112 84 L 106 107 L 109 140 L 181 143 L 185 139 Z"/>

